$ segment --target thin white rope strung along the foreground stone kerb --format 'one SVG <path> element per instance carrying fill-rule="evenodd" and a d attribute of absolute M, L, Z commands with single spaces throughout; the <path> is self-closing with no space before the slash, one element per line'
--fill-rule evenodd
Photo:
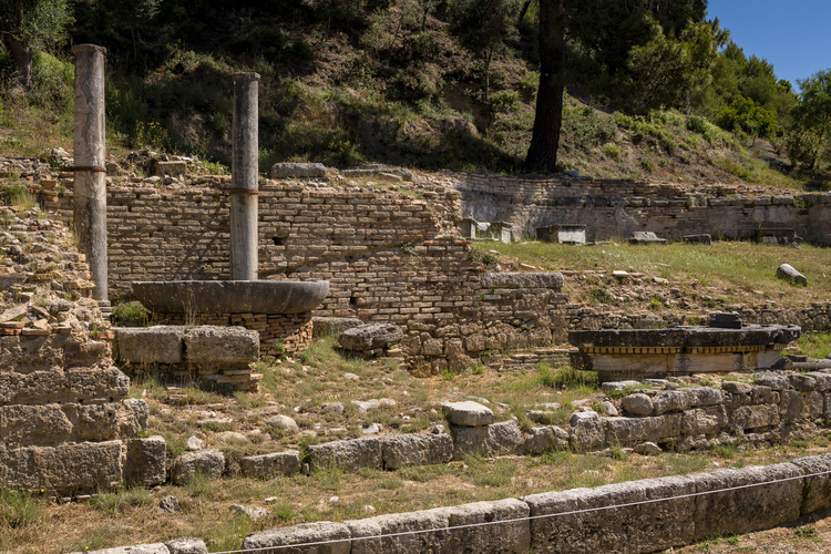
<path fill-rule="evenodd" d="M 399 536 L 407 536 L 407 535 L 420 535 L 425 533 L 438 533 L 438 532 L 453 532 L 458 530 L 463 529 L 472 529 L 472 527 L 483 527 L 488 525 L 506 525 L 511 523 L 519 523 L 524 521 L 534 521 L 534 520 L 544 520 L 548 517 L 561 517 L 565 515 L 577 515 L 577 514 L 584 514 L 584 513 L 592 513 L 592 512 L 601 512 L 605 510 L 615 510 L 618 507 L 635 507 L 640 505 L 647 505 L 647 504 L 655 504 L 658 502 L 670 502 L 676 500 L 685 500 L 685 499 L 693 499 L 697 496 L 705 496 L 708 494 L 719 494 L 724 492 L 731 492 L 731 491 L 740 491 L 745 489 L 752 489 L 755 486 L 765 486 L 770 484 L 777 484 L 777 483 L 787 483 L 790 481 L 797 481 L 800 479 L 811 479 L 817 478 L 821 475 L 829 475 L 831 474 L 831 471 L 822 471 L 818 473 L 810 473 L 808 475 L 799 475 L 793 478 L 784 478 L 784 479 L 777 479 L 773 481 L 766 481 L 763 483 L 751 483 L 747 485 L 737 485 L 737 486 L 729 486 L 727 489 L 718 489 L 715 491 L 704 491 L 704 492 L 694 492 L 688 494 L 679 494 L 677 496 L 669 496 L 664 499 L 653 499 L 653 500 L 642 500 L 637 502 L 628 502 L 626 504 L 616 504 L 612 506 L 597 506 L 597 507 L 588 507 L 584 510 L 573 510 L 570 512 L 560 512 L 556 514 L 544 514 L 544 515 L 530 515 L 527 517 L 516 517 L 513 520 L 499 520 L 499 521 L 492 521 L 492 522 L 481 522 L 481 523 L 469 523 L 465 525 L 454 525 L 452 527 L 438 527 L 438 529 L 425 529 L 425 530 L 417 530 L 417 531 L 402 531 L 400 533 L 389 533 L 383 535 L 370 535 L 370 536 L 360 536 L 360 537 L 352 537 L 352 538 L 336 538 L 330 541 L 317 541 L 317 542 L 309 542 L 309 543 L 294 543 L 294 544 L 284 544 L 284 545 L 276 545 L 276 546 L 260 546 L 256 548 L 246 548 L 246 550 L 237 550 L 237 551 L 224 551 L 224 552 L 216 552 L 214 554 L 239 554 L 239 553 L 254 553 L 254 552 L 263 552 L 263 551 L 276 551 L 281 548 L 300 548 L 305 546 L 321 546 L 326 544 L 336 544 L 336 543 L 342 543 L 346 541 L 373 541 L 377 538 L 392 538 L 392 537 L 399 537 Z M 452 507 L 452 506 L 448 506 Z"/>

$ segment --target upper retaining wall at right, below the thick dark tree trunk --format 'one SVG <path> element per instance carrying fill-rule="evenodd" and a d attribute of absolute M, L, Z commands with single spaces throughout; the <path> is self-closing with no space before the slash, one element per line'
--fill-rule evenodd
<path fill-rule="evenodd" d="M 781 192 L 737 185 L 691 185 L 568 178 L 455 175 L 462 217 L 510 222 L 534 236 L 537 227 L 586 225 L 586 238 L 628 237 L 652 230 L 661 238 L 709 233 L 755 238 L 760 227 L 792 228 L 831 244 L 831 193 Z"/>

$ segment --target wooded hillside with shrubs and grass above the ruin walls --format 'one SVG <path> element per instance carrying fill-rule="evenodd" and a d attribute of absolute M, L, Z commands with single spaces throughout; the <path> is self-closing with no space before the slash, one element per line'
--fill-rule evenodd
<path fill-rule="evenodd" d="M 115 155 L 152 146 L 229 165 L 232 74 L 256 71 L 263 173 L 278 161 L 521 173 L 540 81 L 535 2 L 509 6 L 510 32 L 485 63 L 453 27 L 458 4 L 476 1 L 39 0 L 74 23 L 35 44 L 28 90 L 10 51 L 0 49 L 0 151 L 71 150 L 70 45 L 92 42 L 107 49 L 107 146 Z M 629 19 L 647 25 L 652 40 L 627 39 L 629 69 L 598 70 L 602 82 L 575 78 L 567 88 L 562 171 L 825 188 L 821 156 L 807 164 L 791 147 L 787 130 L 798 99 L 770 64 L 747 59 L 717 21 L 676 22 L 684 30 L 670 34 L 669 22 L 665 32 L 647 11 L 636 16 Z M 582 48 L 575 41 L 573 52 Z M 712 47 L 707 79 L 687 86 L 686 96 L 632 65 L 669 63 L 673 48 L 695 41 L 721 50 Z M 609 55 L 589 61 L 599 68 Z M 589 68 L 587 54 L 573 58 Z"/>

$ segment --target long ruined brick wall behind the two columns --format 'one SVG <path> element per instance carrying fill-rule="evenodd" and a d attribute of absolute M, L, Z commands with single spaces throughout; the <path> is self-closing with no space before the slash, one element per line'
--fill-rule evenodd
<path fill-rule="evenodd" d="M 69 176 L 61 187 L 63 196 L 49 202 L 69 218 Z M 229 177 L 188 186 L 111 181 L 112 298 L 129 298 L 134 280 L 226 279 L 229 187 Z M 484 283 L 469 243 L 442 234 L 456 193 L 430 196 L 261 181 L 260 278 L 328 279 L 315 315 L 401 326 L 404 353 L 421 372 L 458 371 L 486 350 L 562 340 L 562 276 L 523 290 L 510 279 Z"/>

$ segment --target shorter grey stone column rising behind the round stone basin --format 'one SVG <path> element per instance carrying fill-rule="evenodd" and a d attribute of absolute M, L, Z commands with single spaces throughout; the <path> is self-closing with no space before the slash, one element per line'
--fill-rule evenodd
<path fill-rule="evenodd" d="M 234 74 L 230 161 L 230 279 L 257 280 L 258 73 Z"/>

